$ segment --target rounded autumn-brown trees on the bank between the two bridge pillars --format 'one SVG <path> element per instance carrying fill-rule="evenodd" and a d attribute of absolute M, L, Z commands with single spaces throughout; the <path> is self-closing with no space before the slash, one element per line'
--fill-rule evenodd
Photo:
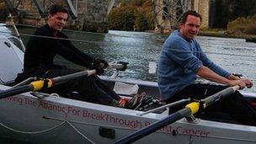
<path fill-rule="evenodd" d="M 154 29 L 151 0 L 123 0 L 109 13 L 109 29 L 145 31 Z"/>

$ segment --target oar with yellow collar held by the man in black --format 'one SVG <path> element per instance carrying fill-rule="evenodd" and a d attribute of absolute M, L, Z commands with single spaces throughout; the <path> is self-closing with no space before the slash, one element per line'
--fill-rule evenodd
<path fill-rule="evenodd" d="M 61 76 L 61 77 L 54 77 L 51 79 L 42 79 L 38 80 L 29 84 L 26 84 L 24 86 L 16 87 L 16 88 L 10 88 L 7 89 L 3 92 L 0 92 L 0 99 L 7 98 L 19 93 L 26 93 L 29 91 L 38 91 L 42 88 L 51 88 L 54 85 L 60 84 L 67 82 L 69 80 L 72 80 L 74 78 L 78 77 L 84 77 L 84 76 L 89 76 L 96 73 L 95 70 L 90 70 L 90 71 L 82 71 L 82 72 L 76 72 L 72 74 L 68 74 L 66 76 Z"/>

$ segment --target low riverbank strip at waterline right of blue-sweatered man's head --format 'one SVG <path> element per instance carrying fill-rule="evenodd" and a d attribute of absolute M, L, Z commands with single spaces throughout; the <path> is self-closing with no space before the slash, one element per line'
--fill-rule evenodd
<path fill-rule="evenodd" d="M 225 37 L 225 38 L 239 38 L 239 39 L 245 39 L 248 42 L 256 42 L 256 35 L 229 34 L 225 29 L 202 29 L 200 30 L 199 35 Z"/>

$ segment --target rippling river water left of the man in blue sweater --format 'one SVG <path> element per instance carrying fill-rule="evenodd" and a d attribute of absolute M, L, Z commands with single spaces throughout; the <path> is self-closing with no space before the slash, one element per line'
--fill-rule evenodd
<path fill-rule="evenodd" d="M 29 30 L 19 29 L 21 35 L 23 33 L 31 34 L 31 30 Z M 120 77 L 157 80 L 155 74 L 149 75 L 147 73 L 148 62 L 157 61 L 166 35 L 112 30 L 109 30 L 109 34 L 74 33 L 70 31 L 65 31 L 65 33 L 73 40 L 74 45 L 91 56 L 102 57 L 106 61 L 129 62 L 129 68 L 125 72 L 120 72 Z M 26 43 L 28 36 L 22 36 L 22 38 Z M 77 68 L 77 66 L 63 59 L 58 62 L 64 62 L 70 67 Z M 109 71 L 106 72 L 107 75 L 110 75 L 110 73 Z"/>

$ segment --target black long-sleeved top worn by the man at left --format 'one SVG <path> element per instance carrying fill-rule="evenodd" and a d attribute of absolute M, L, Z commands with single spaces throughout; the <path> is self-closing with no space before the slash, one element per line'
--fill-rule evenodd
<path fill-rule="evenodd" d="M 24 55 L 24 72 L 40 65 L 52 67 L 54 65 L 53 59 L 57 54 L 77 65 L 91 67 L 93 58 L 77 50 L 70 40 L 65 40 L 67 39 L 67 35 L 61 32 L 56 34 L 58 39 L 54 39 L 53 32 L 48 24 L 37 29 L 34 35 L 45 37 L 33 36 L 29 40 Z M 60 40 L 59 38 L 64 40 Z"/>

